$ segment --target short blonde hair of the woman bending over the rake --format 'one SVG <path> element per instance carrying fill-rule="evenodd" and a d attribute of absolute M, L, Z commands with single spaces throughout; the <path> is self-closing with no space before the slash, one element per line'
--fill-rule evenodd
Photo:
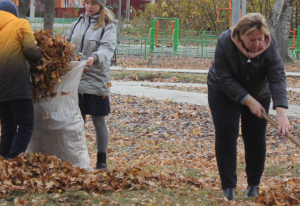
<path fill-rule="evenodd" d="M 262 14 L 259 13 L 246 14 L 242 17 L 242 19 L 239 19 L 232 30 L 237 36 L 238 41 L 241 41 L 241 34 L 246 35 L 254 30 L 259 30 L 265 35 L 270 34 L 266 19 Z"/>

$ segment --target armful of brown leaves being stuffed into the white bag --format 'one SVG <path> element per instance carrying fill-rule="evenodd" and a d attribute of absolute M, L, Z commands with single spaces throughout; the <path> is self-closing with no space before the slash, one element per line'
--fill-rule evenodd
<path fill-rule="evenodd" d="M 72 58 L 80 58 L 73 54 L 76 45 L 67 43 L 61 36 L 54 38 L 51 34 L 51 30 L 34 33 L 37 46 L 42 52 L 41 60 L 30 62 L 34 102 L 39 102 L 39 98 L 55 97 L 55 84 L 63 82 L 61 78 L 72 70 Z"/>

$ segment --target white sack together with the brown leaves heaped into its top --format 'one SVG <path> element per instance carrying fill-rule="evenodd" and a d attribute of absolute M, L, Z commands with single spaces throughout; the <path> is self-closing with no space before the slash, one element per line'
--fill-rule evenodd
<path fill-rule="evenodd" d="M 34 131 L 26 152 L 55 155 L 86 170 L 89 154 L 78 106 L 78 85 L 85 62 L 71 62 L 75 45 L 52 31 L 35 32 L 39 62 L 30 62 L 34 98 Z"/>

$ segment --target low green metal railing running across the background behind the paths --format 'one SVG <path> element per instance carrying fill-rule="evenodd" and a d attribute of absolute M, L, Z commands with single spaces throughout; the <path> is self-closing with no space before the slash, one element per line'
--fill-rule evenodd
<path fill-rule="evenodd" d="M 76 19 L 73 19 L 73 21 L 76 21 Z M 31 23 L 31 25 L 34 32 L 43 28 L 43 22 L 41 22 L 41 25 L 39 23 Z M 55 27 L 54 25 L 54 36 L 64 34 L 69 28 L 69 24 L 60 24 L 59 26 Z M 143 55 L 144 58 L 149 55 L 213 58 L 217 38 L 222 34 L 222 32 L 180 30 L 178 51 L 174 52 L 173 45 L 175 42 L 171 39 L 171 30 L 159 30 L 158 43 L 153 52 L 150 52 L 149 32 L 150 29 L 121 28 L 116 53 Z M 290 35 L 288 39 L 290 56 L 298 57 L 293 52 L 293 45 L 296 43 L 297 41 L 294 42 L 293 36 Z"/>

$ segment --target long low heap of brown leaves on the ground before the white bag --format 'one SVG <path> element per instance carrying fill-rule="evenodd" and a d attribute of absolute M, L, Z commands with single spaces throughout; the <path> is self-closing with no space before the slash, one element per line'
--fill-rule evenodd
<path fill-rule="evenodd" d="M 119 168 L 107 173 L 102 170 L 87 172 L 55 156 L 30 153 L 16 159 L 0 159 L 0 198 L 13 190 L 25 192 L 65 192 L 85 190 L 100 193 L 122 190 L 159 190 L 187 183 L 202 187 L 195 178 L 186 178 L 175 172 L 150 173 L 139 167 Z"/>

